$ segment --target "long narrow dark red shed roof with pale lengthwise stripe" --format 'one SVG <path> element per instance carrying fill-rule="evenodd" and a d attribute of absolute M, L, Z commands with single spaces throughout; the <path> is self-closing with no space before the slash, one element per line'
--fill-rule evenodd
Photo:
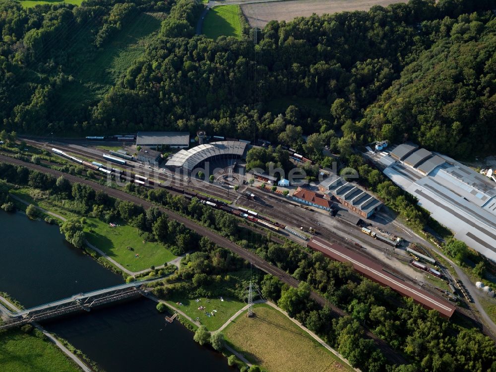
<path fill-rule="evenodd" d="M 430 293 L 416 288 L 384 270 L 382 266 L 373 262 L 367 257 L 358 254 L 351 249 L 338 244 L 330 244 L 319 238 L 312 238 L 307 246 L 313 250 L 322 252 L 329 258 L 339 262 L 350 262 L 353 268 L 361 275 L 377 282 L 383 286 L 388 286 L 400 295 L 412 298 L 416 303 L 429 310 L 437 310 L 442 316 L 450 318 L 456 307 L 447 301 L 441 300 Z"/>

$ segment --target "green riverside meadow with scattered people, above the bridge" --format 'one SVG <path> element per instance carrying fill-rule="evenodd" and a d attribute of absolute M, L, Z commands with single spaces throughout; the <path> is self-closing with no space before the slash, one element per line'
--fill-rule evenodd
<path fill-rule="evenodd" d="M 88 242 L 131 271 L 144 270 L 152 265 L 159 266 L 176 258 L 160 243 L 143 243 L 135 227 L 110 227 L 96 218 L 87 218 L 86 221 L 84 231 Z"/>

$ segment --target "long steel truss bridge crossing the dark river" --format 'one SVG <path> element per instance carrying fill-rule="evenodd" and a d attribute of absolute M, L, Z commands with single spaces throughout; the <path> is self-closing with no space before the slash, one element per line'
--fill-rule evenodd
<path fill-rule="evenodd" d="M 19 326 L 33 321 L 53 318 L 74 311 L 90 311 L 91 308 L 98 305 L 108 304 L 114 301 L 139 296 L 144 294 L 141 286 L 160 279 L 161 278 L 155 278 L 140 282 L 125 283 L 92 292 L 79 293 L 62 300 L 20 311 L 11 311 L 0 303 L 0 313 L 3 319 L 3 321 L 0 323 L 0 330 Z"/>

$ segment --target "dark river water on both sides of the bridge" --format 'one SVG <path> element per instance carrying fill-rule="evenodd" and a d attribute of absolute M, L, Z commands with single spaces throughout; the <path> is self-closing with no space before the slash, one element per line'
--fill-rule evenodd
<path fill-rule="evenodd" d="M 26 308 L 123 283 L 67 244 L 57 226 L 0 211 L 0 291 Z M 221 354 L 199 346 L 181 323 L 138 299 L 57 318 L 43 325 L 107 372 L 233 372 Z"/>

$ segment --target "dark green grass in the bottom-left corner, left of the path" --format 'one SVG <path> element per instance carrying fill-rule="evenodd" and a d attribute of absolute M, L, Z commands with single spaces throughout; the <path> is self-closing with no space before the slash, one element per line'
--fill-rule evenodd
<path fill-rule="evenodd" d="M 65 355 L 49 341 L 19 329 L 0 333 L 2 372 L 78 372 Z"/>

